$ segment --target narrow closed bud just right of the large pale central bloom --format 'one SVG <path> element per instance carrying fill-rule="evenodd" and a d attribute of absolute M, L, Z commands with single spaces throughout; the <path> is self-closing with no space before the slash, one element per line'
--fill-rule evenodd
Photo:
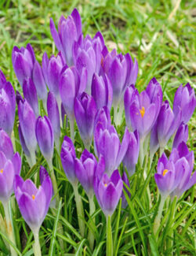
<path fill-rule="evenodd" d="M 129 145 L 122 162 L 123 162 L 123 165 L 125 165 L 130 176 L 132 176 L 132 174 L 135 173 L 136 163 L 139 157 L 139 150 L 140 150 L 139 133 L 137 131 L 129 132 Z"/>

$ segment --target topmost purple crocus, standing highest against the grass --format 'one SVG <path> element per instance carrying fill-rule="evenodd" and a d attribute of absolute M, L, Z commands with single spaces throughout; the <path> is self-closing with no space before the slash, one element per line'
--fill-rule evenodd
<path fill-rule="evenodd" d="M 82 34 L 82 22 L 77 9 L 74 9 L 67 19 L 60 17 L 58 32 L 56 32 L 53 19 L 50 19 L 50 32 L 53 36 L 56 48 L 64 53 L 67 65 L 73 65 L 72 48 L 74 41 L 78 41 Z"/>

